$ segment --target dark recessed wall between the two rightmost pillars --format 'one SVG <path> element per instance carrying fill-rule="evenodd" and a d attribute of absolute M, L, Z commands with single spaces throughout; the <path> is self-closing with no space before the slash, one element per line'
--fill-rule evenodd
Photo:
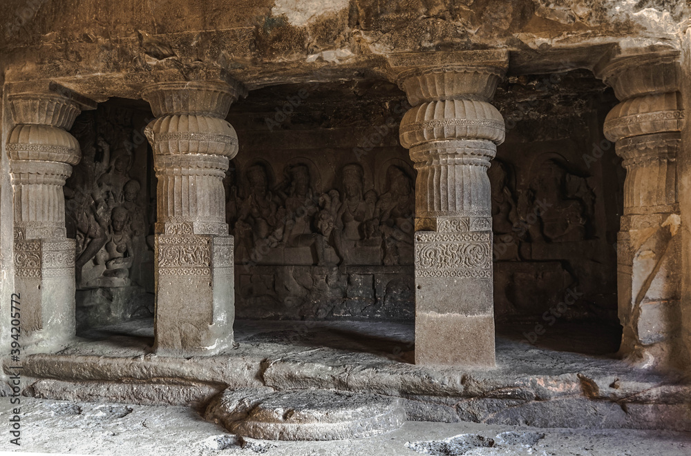
<path fill-rule="evenodd" d="M 618 324 L 625 172 L 603 135 L 612 91 L 576 70 L 511 78 L 495 103 L 507 121 L 490 170 L 495 315 Z"/>

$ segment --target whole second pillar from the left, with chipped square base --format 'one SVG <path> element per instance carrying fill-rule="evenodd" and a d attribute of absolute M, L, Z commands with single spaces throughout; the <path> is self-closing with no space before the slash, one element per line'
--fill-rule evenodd
<path fill-rule="evenodd" d="M 210 355 L 233 344 L 234 241 L 223 177 L 238 152 L 225 121 L 237 83 L 169 82 L 144 90 L 157 119 L 146 136 L 158 177 L 155 350 Z"/>

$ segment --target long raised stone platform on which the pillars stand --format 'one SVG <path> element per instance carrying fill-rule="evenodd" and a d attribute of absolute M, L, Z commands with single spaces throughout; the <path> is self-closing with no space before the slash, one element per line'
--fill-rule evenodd
<path fill-rule="evenodd" d="M 410 364 L 409 324 L 235 327 L 239 348 L 187 359 L 150 353 L 150 320 L 93 331 L 57 355 L 25 357 L 23 385 L 51 399 L 204 407 L 226 388 L 333 389 L 399 397 L 408 420 L 691 430 L 691 386 L 606 355 L 612 328 L 558 323 L 533 346 L 529 327 L 500 326 L 498 366 L 480 369 Z"/>

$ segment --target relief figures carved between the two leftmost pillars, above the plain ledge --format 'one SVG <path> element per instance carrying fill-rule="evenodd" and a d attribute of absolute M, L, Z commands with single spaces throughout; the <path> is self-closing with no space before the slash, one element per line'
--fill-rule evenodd
<path fill-rule="evenodd" d="M 65 197 L 67 225 L 77 240 L 77 286 L 129 286 L 139 277 L 149 234 L 140 180 L 131 175 L 131 115 L 113 111 L 110 116 L 84 116 L 73 134 L 82 161 L 65 186 Z M 146 170 L 140 171 L 145 177 Z"/>

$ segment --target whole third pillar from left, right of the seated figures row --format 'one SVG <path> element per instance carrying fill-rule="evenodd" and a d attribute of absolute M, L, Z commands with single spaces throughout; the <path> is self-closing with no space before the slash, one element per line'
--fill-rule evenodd
<path fill-rule="evenodd" d="M 487 169 L 504 141 L 504 119 L 489 100 L 507 61 L 493 51 L 390 60 L 414 106 L 400 139 L 417 169 L 416 364 L 495 365 Z"/>

